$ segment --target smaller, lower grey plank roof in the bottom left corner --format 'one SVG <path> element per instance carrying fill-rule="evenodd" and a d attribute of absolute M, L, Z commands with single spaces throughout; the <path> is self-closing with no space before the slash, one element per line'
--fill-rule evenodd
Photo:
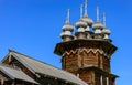
<path fill-rule="evenodd" d="M 23 73 L 18 68 L 13 68 L 8 65 L 0 64 L 0 71 L 11 79 L 21 79 L 33 84 L 38 84 L 37 82 L 32 79 L 30 76 L 28 76 L 25 73 Z"/>

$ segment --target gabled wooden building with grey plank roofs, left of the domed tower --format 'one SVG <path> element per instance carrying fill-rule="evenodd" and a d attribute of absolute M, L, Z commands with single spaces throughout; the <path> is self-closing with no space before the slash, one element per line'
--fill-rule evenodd
<path fill-rule="evenodd" d="M 68 73 L 9 50 L 0 64 L 1 85 L 87 85 Z"/>

